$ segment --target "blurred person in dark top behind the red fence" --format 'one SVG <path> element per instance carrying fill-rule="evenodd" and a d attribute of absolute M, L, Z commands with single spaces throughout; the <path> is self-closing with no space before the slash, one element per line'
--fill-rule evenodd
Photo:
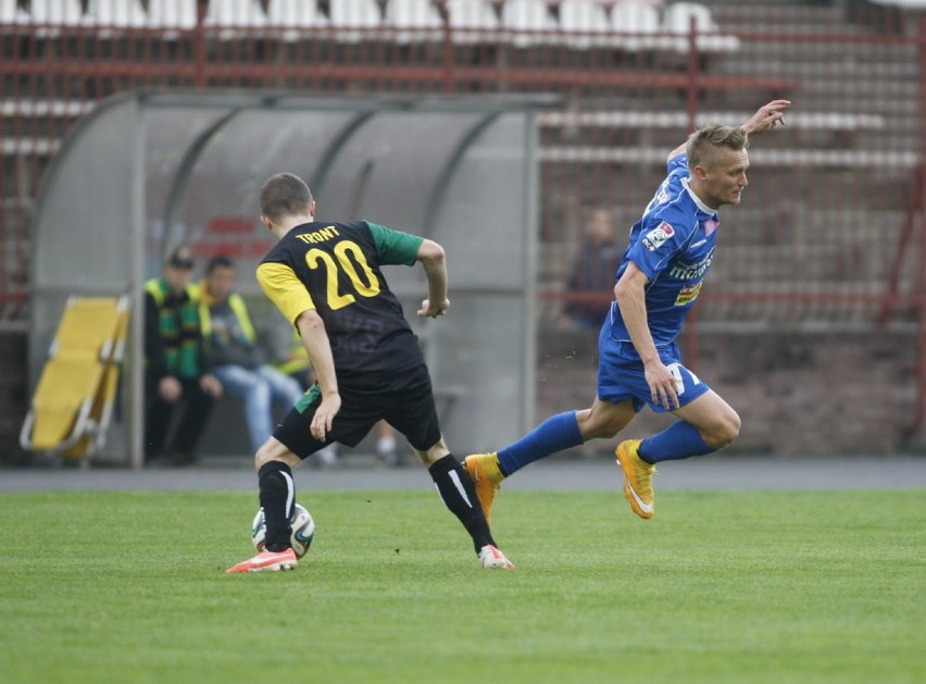
<path fill-rule="evenodd" d="M 563 309 L 564 326 L 598 329 L 614 298 L 614 274 L 621 257 L 622 250 L 614 241 L 614 216 L 606 209 L 593 210 L 566 283 L 566 289 L 580 297 L 570 299 Z"/>

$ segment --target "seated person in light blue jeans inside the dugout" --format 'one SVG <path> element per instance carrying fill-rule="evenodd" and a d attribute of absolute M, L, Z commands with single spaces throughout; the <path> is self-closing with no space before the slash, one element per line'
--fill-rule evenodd
<path fill-rule="evenodd" d="M 212 372 L 228 395 L 245 403 L 251 447 L 256 451 L 273 432 L 273 403 L 292 408 L 302 397 L 299 383 L 270 365 L 240 295 L 234 293 L 236 270 L 226 257 L 214 257 L 199 287 L 199 315 Z"/>

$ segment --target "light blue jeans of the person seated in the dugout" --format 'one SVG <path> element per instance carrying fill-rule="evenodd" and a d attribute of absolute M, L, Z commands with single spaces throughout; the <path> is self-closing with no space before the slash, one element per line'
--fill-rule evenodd
<path fill-rule="evenodd" d="M 253 370 L 241 365 L 218 365 L 212 373 L 228 395 L 243 401 L 254 452 L 273 433 L 273 403 L 291 408 L 302 397 L 299 383 L 271 365 Z"/>

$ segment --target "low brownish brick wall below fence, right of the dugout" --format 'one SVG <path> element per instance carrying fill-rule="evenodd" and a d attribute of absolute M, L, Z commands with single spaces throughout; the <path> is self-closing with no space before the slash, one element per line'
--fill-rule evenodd
<path fill-rule="evenodd" d="M 910 333 L 719 334 L 702 331 L 697 365 L 685 363 L 742 419 L 738 453 L 926 455 L 908 435 L 915 410 L 915 338 Z M 591 405 L 597 335 L 548 332 L 538 363 L 538 421 Z M 645 437 L 671 419 L 646 409 L 625 431 Z M 617 439 L 577 455 L 610 452 Z"/>

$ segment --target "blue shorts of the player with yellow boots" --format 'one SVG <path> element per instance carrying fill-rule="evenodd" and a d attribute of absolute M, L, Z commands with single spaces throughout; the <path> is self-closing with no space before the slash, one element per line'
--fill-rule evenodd
<path fill-rule="evenodd" d="M 633 343 L 611 339 L 610 331 L 611 326 L 605 323 L 598 340 L 598 398 L 614 403 L 630 399 L 635 411 L 642 409 L 646 403 L 656 413 L 674 410 L 675 407 L 666 409 L 661 403 L 653 403 L 640 355 Z M 660 359 L 675 377 L 679 407 L 710 391 L 711 388 L 703 381 L 681 365 L 677 344 L 656 349 Z"/>

